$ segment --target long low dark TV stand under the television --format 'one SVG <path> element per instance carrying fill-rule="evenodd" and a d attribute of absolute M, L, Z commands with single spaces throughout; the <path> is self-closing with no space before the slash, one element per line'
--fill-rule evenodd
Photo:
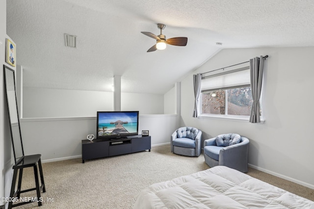
<path fill-rule="evenodd" d="M 151 136 L 136 135 L 124 139 L 82 140 L 82 163 L 85 160 L 123 155 L 134 152 L 151 151 Z"/>

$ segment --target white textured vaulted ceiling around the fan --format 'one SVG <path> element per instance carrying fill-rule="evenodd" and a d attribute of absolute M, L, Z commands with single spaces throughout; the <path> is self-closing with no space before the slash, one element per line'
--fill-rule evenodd
<path fill-rule="evenodd" d="M 24 86 L 36 88 L 111 91 L 121 75 L 122 92 L 166 93 L 222 48 L 314 46 L 313 20 L 313 0 L 7 0 Z M 156 41 L 140 32 L 158 35 L 157 23 L 187 46 L 147 53 Z"/>

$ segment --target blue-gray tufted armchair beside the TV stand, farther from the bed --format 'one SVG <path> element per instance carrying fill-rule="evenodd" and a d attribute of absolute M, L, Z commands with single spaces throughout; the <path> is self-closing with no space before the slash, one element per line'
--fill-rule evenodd
<path fill-rule="evenodd" d="M 181 127 L 171 135 L 171 152 L 178 155 L 200 156 L 202 131 L 193 127 Z"/>

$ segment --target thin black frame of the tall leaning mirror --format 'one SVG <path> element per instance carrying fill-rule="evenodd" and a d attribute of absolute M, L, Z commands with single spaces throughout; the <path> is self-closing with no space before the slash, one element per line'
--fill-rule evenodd
<path fill-rule="evenodd" d="M 6 65 L 3 65 L 3 73 L 4 73 L 4 89 L 5 89 L 5 93 L 6 93 L 6 102 L 7 102 L 7 108 L 8 108 L 8 115 L 9 115 L 9 123 L 10 123 L 10 132 L 11 132 L 11 140 L 12 140 L 12 148 L 13 148 L 13 154 L 14 154 L 14 160 L 15 160 L 15 165 L 19 164 L 23 159 L 24 159 L 24 148 L 23 148 L 23 142 L 22 142 L 22 133 L 21 133 L 21 126 L 20 126 L 20 116 L 19 116 L 19 110 L 18 110 L 18 103 L 17 103 L 17 97 L 16 97 L 16 87 L 15 87 L 15 71 L 10 69 L 9 67 L 7 67 Z M 12 73 L 13 75 L 13 80 L 8 80 L 11 79 L 10 76 L 8 75 L 8 73 Z M 9 102 L 9 91 L 10 91 L 10 83 L 14 84 L 14 94 L 15 94 L 15 105 L 11 104 L 10 106 L 10 102 Z M 13 87 L 13 86 L 12 86 Z M 21 141 L 19 141 L 18 139 L 14 139 L 13 136 L 13 123 L 12 123 L 12 117 L 10 112 L 12 113 L 12 111 L 15 111 L 12 109 L 15 109 L 16 107 L 16 114 L 17 114 L 17 125 L 19 127 L 19 136 Z M 16 136 L 16 135 L 15 135 Z M 18 140 L 18 141 L 16 141 Z M 20 144 L 15 144 L 16 143 L 20 143 L 21 142 L 21 148 L 22 148 L 22 156 L 17 156 L 17 150 L 18 149 L 18 145 Z M 15 146 L 16 145 L 16 146 Z"/>

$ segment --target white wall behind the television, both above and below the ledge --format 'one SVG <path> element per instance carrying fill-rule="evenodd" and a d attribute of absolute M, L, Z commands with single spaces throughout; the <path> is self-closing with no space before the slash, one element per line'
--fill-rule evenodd
<path fill-rule="evenodd" d="M 121 93 L 121 110 L 140 112 L 139 134 L 149 130 L 152 145 L 169 143 L 179 127 L 178 115 L 163 115 L 163 101 L 162 94 Z M 96 136 L 97 111 L 113 111 L 113 93 L 24 87 L 25 154 L 41 153 L 44 162 L 80 157 L 81 140 Z"/>

